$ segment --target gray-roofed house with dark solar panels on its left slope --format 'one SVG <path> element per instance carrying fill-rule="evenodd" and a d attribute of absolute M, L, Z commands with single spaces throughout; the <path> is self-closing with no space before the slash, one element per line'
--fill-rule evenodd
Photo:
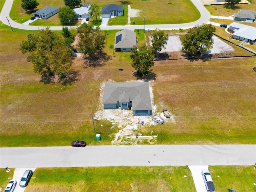
<path fill-rule="evenodd" d="M 124 29 L 116 33 L 114 45 L 115 52 L 130 52 L 134 46 L 137 47 L 135 32 Z"/>

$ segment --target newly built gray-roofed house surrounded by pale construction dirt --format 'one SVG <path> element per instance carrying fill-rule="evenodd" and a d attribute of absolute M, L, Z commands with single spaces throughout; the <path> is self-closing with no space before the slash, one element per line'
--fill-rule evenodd
<path fill-rule="evenodd" d="M 148 82 L 106 82 L 102 103 L 104 109 L 130 109 L 134 116 L 152 116 Z"/>

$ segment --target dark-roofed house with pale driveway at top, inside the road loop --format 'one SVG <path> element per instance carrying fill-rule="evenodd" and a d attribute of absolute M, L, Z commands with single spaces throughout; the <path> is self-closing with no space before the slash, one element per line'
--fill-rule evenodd
<path fill-rule="evenodd" d="M 109 4 L 102 7 L 101 18 L 111 18 L 111 16 L 123 16 L 124 6 Z"/>

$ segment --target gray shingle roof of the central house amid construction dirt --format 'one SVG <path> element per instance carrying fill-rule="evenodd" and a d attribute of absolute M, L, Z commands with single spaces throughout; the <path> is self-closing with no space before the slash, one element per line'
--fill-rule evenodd
<path fill-rule="evenodd" d="M 105 83 L 103 104 L 132 101 L 132 110 L 152 110 L 148 82 Z"/>

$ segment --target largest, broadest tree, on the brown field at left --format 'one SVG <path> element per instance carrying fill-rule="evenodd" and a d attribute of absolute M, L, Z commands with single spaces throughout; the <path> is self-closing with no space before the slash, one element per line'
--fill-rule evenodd
<path fill-rule="evenodd" d="M 45 28 L 28 35 L 22 41 L 20 50 L 28 52 L 28 58 L 34 64 L 34 72 L 47 71 L 50 75 L 65 77 L 72 65 L 72 52 L 60 34 Z"/>

